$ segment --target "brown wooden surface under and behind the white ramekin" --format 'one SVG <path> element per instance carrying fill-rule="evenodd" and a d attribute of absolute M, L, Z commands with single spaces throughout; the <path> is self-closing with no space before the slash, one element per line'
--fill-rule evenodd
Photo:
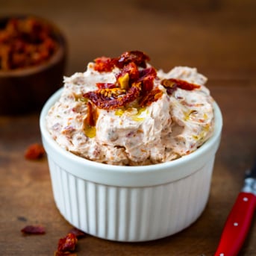
<path fill-rule="evenodd" d="M 196 66 L 222 109 L 222 143 L 202 216 L 178 234 L 147 243 L 87 235 L 78 255 L 213 255 L 225 219 L 256 156 L 255 1 L 4 1 L 0 14 L 34 13 L 53 20 L 69 41 L 66 75 L 101 55 L 140 49 L 165 71 Z M 192 4 L 193 2 L 193 4 Z M 40 143 L 39 113 L 0 116 L 0 255 L 54 255 L 71 225 L 54 205 L 46 158 L 25 160 Z M 25 225 L 46 234 L 23 236 Z M 256 255 L 256 222 L 240 255 Z"/>

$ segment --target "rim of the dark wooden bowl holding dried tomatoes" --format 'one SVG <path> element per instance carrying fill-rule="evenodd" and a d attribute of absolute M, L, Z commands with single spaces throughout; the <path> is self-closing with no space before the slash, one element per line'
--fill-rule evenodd
<path fill-rule="evenodd" d="M 37 16 L 34 14 L 13 14 L 10 16 L 7 16 L 7 15 L 0 16 L 0 23 L 1 21 L 7 20 L 7 19 L 12 19 L 12 18 L 25 19 L 26 17 L 33 17 L 34 19 L 37 19 L 49 25 L 54 34 L 54 40 L 57 41 L 59 47 L 57 48 L 57 51 L 55 51 L 54 54 L 52 54 L 48 60 L 41 63 L 40 65 L 28 66 L 24 69 L 10 69 L 7 71 L 0 69 L 0 78 L 12 78 L 12 77 L 21 77 L 24 75 L 33 75 L 34 73 L 41 72 L 45 69 L 49 69 L 50 66 L 53 66 L 65 55 L 66 45 L 67 45 L 66 37 L 64 36 L 60 28 L 58 28 L 57 25 L 55 25 L 53 22 L 51 22 L 48 19 L 45 19 L 41 16 Z"/>

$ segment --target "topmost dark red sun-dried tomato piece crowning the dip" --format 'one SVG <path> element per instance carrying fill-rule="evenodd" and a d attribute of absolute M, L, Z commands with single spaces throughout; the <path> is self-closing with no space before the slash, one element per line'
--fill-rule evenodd
<path fill-rule="evenodd" d="M 116 65 L 119 68 L 124 67 L 128 63 L 134 62 L 137 66 L 146 68 L 146 61 L 150 58 L 143 51 L 125 51 L 119 58 Z"/>

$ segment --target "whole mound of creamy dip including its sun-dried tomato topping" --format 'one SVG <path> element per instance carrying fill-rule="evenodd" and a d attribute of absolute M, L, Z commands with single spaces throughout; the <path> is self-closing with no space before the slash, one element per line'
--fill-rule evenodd
<path fill-rule="evenodd" d="M 99 57 L 64 78 L 46 116 L 64 149 L 100 163 L 148 165 L 190 154 L 213 133 L 207 78 L 178 66 L 165 73 L 141 51 Z"/>

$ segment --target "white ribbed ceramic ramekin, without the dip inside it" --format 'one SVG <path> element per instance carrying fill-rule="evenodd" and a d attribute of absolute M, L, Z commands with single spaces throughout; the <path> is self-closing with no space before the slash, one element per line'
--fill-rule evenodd
<path fill-rule="evenodd" d="M 217 104 L 213 137 L 196 152 L 168 163 L 112 166 L 67 152 L 51 138 L 45 117 L 60 93 L 43 107 L 40 129 L 54 200 L 68 222 L 96 237 L 135 242 L 167 237 L 199 218 L 221 138 Z"/>

